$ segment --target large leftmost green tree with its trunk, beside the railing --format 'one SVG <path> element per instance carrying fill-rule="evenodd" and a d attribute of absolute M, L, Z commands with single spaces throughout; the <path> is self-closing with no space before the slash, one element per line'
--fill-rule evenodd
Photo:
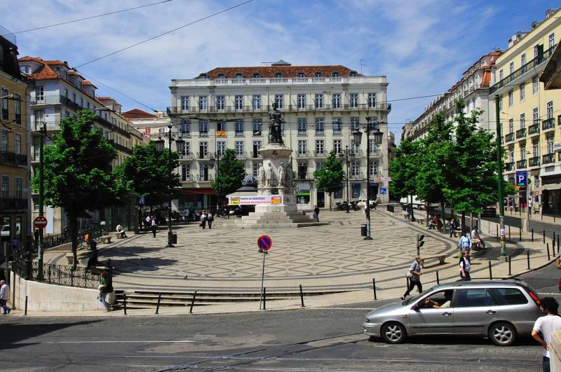
<path fill-rule="evenodd" d="M 111 173 L 116 150 L 94 128 L 92 111 L 81 110 L 76 118 L 65 118 L 60 132 L 45 147 L 43 155 L 46 205 L 61 207 L 67 215 L 72 239 L 72 268 L 76 270 L 78 218 L 88 210 L 97 210 L 120 201 L 123 185 Z M 39 172 L 32 179 L 39 191 Z"/>

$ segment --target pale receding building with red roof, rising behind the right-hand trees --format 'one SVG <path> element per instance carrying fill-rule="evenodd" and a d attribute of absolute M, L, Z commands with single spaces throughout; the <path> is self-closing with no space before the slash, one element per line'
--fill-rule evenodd
<path fill-rule="evenodd" d="M 455 83 L 448 92 L 436 97 L 431 104 L 425 107 L 424 113 L 421 113 L 419 118 L 405 125 L 402 139 L 414 141 L 426 137 L 428 127 L 437 113 L 442 114 L 447 121 L 452 120 L 456 115 L 454 102 L 458 99 L 464 99 L 467 115 L 470 115 L 473 109 L 481 109 L 483 113 L 478 125 L 486 130 L 494 131 L 496 128 L 495 111 L 493 106 L 489 106 L 489 82 L 492 67 L 499 55 L 501 52 L 495 50 L 472 64 L 464 71 L 461 80 Z"/>

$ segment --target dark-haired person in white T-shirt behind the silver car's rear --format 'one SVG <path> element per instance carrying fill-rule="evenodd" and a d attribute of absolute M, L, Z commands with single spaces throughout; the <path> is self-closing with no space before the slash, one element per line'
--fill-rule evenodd
<path fill-rule="evenodd" d="M 540 301 L 540 310 L 546 312 L 546 316 L 539 317 L 532 329 L 532 337 L 543 347 L 543 372 L 549 372 L 549 349 L 553 332 L 561 331 L 561 317 L 557 313 L 559 303 L 553 297 L 543 297 Z M 541 332 L 541 337 L 539 333 Z"/>

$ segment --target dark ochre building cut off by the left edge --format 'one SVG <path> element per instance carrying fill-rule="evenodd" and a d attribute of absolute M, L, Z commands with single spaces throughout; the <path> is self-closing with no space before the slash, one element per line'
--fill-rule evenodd
<path fill-rule="evenodd" d="M 18 66 L 15 35 L 0 27 L 1 241 L 25 242 L 29 216 L 29 116 L 27 83 Z M 2 254 L 2 252 L 0 252 Z"/>

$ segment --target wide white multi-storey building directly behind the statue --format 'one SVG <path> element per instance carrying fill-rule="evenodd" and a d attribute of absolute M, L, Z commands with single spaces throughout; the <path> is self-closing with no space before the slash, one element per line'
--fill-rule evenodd
<path fill-rule="evenodd" d="M 328 207 L 327 193 L 316 187 L 313 172 L 320 169 L 330 151 L 337 155 L 349 149 L 349 195 L 365 197 L 370 172 L 371 195 L 387 187 L 388 125 L 385 76 L 363 76 L 347 67 L 292 66 L 280 60 L 269 67 L 219 67 L 191 79 L 171 81 L 168 114 L 174 130 L 185 140 L 179 170 L 182 198 L 179 207 L 213 205 L 215 179 L 211 160 L 225 149 L 235 149 L 246 173 L 257 176 L 262 163 L 258 150 L 267 143 L 269 111 L 276 104 L 283 113 L 281 132 L 292 153 L 292 169 L 298 207 Z M 353 142 L 351 130 L 379 123 L 381 144 L 370 136 Z M 344 185 L 346 185 L 346 180 Z M 334 193 L 334 201 L 346 199 L 346 186 Z"/>

